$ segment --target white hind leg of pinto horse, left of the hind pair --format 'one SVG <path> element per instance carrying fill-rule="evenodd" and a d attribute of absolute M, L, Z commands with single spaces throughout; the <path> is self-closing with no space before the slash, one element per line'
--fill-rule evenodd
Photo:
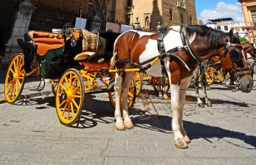
<path fill-rule="evenodd" d="M 121 109 L 120 109 L 120 95 L 122 91 L 122 77 L 123 74 L 116 74 L 114 80 L 114 94 L 116 99 L 116 108 L 114 110 L 114 119 L 116 119 L 116 129 L 125 130 L 125 124 L 122 122 Z"/>

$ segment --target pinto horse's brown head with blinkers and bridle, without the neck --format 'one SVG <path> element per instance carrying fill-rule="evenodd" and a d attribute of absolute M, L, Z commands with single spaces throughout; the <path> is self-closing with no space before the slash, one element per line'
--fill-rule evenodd
<path fill-rule="evenodd" d="M 238 89 L 242 92 L 249 93 L 252 91 L 253 80 L 246 63 L 245 52 L 241 43 L 235 40 L 229 40 L 229 38 L 232 38 L 230 34 L 226 38 L 223 53 L 220 56 L 221 64 L 226 71 L 230 72 L 230 75 L 236 81 L 236 85 L 238 85 Z"/>

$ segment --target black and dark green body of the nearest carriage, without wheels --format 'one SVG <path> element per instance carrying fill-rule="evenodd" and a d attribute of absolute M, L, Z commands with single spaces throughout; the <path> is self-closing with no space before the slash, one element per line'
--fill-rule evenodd
<path fill-rule="evenodd" d="M 47 32 L 49 33 L 49 32 Z M 25 70 L 30 72 L 30 65 L 35 62 L 37 76 L 45 79 L 60 78 L 66 69 L 83 69 L 80 64 L 74 60 L 75 55 L 82 52 L 82 38 L 76 38 L 75 46 L 71 45 L 71 38 L 63 43 L 63 46 L 57 49 L 49 49 L 45 55 L 38 55 L 38 45 L 31 36 L 26 33 L 24 39 L 18 39 L 18 44 L 24 53 Z"/>

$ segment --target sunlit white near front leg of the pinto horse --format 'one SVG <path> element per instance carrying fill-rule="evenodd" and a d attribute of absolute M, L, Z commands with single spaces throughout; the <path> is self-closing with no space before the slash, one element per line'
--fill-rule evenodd
<path fill-rule="evenodd" d="M 174 143 L 178 148 L 187 148 L 187 143 L 184 140 L 184 136 L 181 133 L 181 130 L 183 131 L 183 133 L 185 133 L 184 128 L 181 129 L 181 127 L 183 127 L 183 122 L 180 122 L 183 116 L 183 106 L 181 105 L 182 102 L 184 102 L 184 100 L 181 100 L 181 97 L 184 98 L 184 96 L 180 96 L 180 94 L 184 95 L 186 93 L 186 90 L 181 90 L 183 92 L 180 92 L 180 85 L 174 84 L 170 85 L 170 89 L 172 91 L 171 105 L 173 110 L 172 130 L 174 135 Z"/>

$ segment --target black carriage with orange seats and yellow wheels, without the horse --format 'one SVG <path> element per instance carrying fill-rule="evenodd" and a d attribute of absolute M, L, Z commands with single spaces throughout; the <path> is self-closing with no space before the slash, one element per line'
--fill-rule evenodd
<path fill-rule="evenodd" d="M 41 89 L 44 88 L 44 79 L 52 79 L 52 92 L 56 96 L 56 109 L 62 124 L 77 122 L 85 93 L 93 91 L 99 84 L 100 91 L 108 92 L 114 108 L 114 92 L 109 85 L 115 74 L 109 72 L 109 60 L 113 55 L 114 41 L 120 34 L 88 33 L 91 37 L 85 38 L 81 29 L 72 29 L 66 24 L 61 34 L 28 31 L 23 39 L 18 39 L 23 54 L 15 56 L 7 71 L 4 92 L 7 102 L 14 103 L 19 99 L 26 76 L 36 72 L 36 77 L 41 78 Z M 104 47 L 103 51 L 100 46 Z M 133 81 L 128 92 L 129 107 L 134 104 L 135 94 Z"/>

